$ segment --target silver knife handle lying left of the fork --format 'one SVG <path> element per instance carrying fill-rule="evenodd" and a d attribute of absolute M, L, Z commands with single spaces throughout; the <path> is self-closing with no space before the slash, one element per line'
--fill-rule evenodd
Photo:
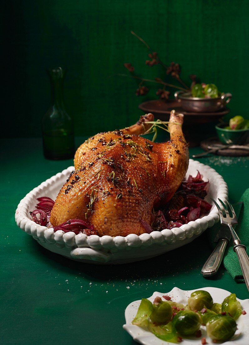
<path fill-rule="evenodd" d="M 204 277 L 210 277 L 217 273 L 220 267 L 228 240 L 222 238 L 219 240 L 217 246 L 215 247 L 213 253 L 209 256 L 207 261 L 202 267 L 201 273 Z"/>

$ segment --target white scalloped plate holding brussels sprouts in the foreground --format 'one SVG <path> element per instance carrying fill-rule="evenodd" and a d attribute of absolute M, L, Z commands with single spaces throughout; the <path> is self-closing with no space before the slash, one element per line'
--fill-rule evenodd
<path fill-rule="evenodd" d="M 172 300 L 177 303 L 182 303 L 184 305 L 187 304 L 187 299 L 190 297 L 191 293 L 196 290 L 205 290 L 209 292 L 209 294 L 213 297 L 214 303 L 222 303 L 224 298 L 230 295 L 230 292 L 227 290 L 219 289 L 217 287 L 202 287 L 199 289 L 194 290 L 181 290 L 178 287 L 174 287 L 170 292 L 161 293 L 161 292 L 154 292 L 151 297 L 148 299 L 153 303 L 153 300 L 156 296 L 162 297 L 163 295 L 169 295 Z M 235 332 L 234 336 L 224 343 L 223 345 L 246 345 L 249 343 L 249 299 L 239 299 L 237 298 L 242 306 L 242 310 L 245 310 L 247 314 L 241 315 L 236 323 L 237 323 L 237 331 Z M 132 336 L 132 338 L 143 345 L 172 345 L 172 343 L 162 341 L 161 339 L 157 338 L 154 334 L 145 329 L 138 327 L 136 325 L 132 325 L 132 320 L 137 314 L 138 307 L 140 305 L 141 299 L 134 301 L 128 305 L 125 310 L 125 319 L 126 324 L 123 325 L 123 328 Z M 206 338 L 207 344 L 213 344 L 212 340 L 207 337 L 206 327 L 201 326 L 202 337 Z M 201 338 L 196 337 L 188 337 L 187 339 L 184 338 L 182 345 L 200 345 Z"/>

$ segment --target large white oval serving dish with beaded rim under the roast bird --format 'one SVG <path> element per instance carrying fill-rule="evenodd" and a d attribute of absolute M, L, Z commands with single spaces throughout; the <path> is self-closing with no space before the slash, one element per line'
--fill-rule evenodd
<path fill-rule="evenodd" d="M 36 199 L 41 196 L 55 199 L 73 169 L 74 167 L 68 167 L 34 188 L 20 201 L 15 212 L 15 220 L 22 230 L 33 236 L 44 248 L 68 258 L 95 264 L 122 264 L 148 259 L 192 242 L 219 220 L 218 211 L 213 206 L 207 216 L 184 224 L 180 228 L 153 231 L 151 234 L 140 236 L 130 234 L 126 237 L 99 237 L 64 233 L 62 230 L 54 233 L 53 228 L 48 229 L 34 223 L 30 219 L 29 211 L 35 208 Z M 210 197 L 220 198 L 225 202 L 228 198 L 228 189 L 224 179 L 213 168 L 190 159 L 186 176 L 196 175 L 197 170 L 201 172 L 204 180 L 210 181 L 206 199 L 210 201 Z"/>

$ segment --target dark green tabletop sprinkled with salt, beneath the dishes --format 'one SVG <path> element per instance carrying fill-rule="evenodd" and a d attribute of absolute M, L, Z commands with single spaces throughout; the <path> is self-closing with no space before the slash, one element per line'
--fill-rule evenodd
<path fill-rule="evenodd" d="M 198 152 L 202 149 L 190 149 L 191 156 Z M 248 298 L 246 285 L 234 282 L 223 267 L 213 278 L 201 275 L 211 250 L 209 230 L 181 248 L 125 265 L 82 264 L 49 252 L 17 227 L 15 209 L 73 160 L 44 159 L 41 139 L 2 141 L 1 159 L 1 344 L 136 344 L 122 329 L 126 306 L 174 286 L 213 286 Z M 199 160 L 224 177 L 230 201 L 238 201 L 248 187 L 248 158 Z"/>

